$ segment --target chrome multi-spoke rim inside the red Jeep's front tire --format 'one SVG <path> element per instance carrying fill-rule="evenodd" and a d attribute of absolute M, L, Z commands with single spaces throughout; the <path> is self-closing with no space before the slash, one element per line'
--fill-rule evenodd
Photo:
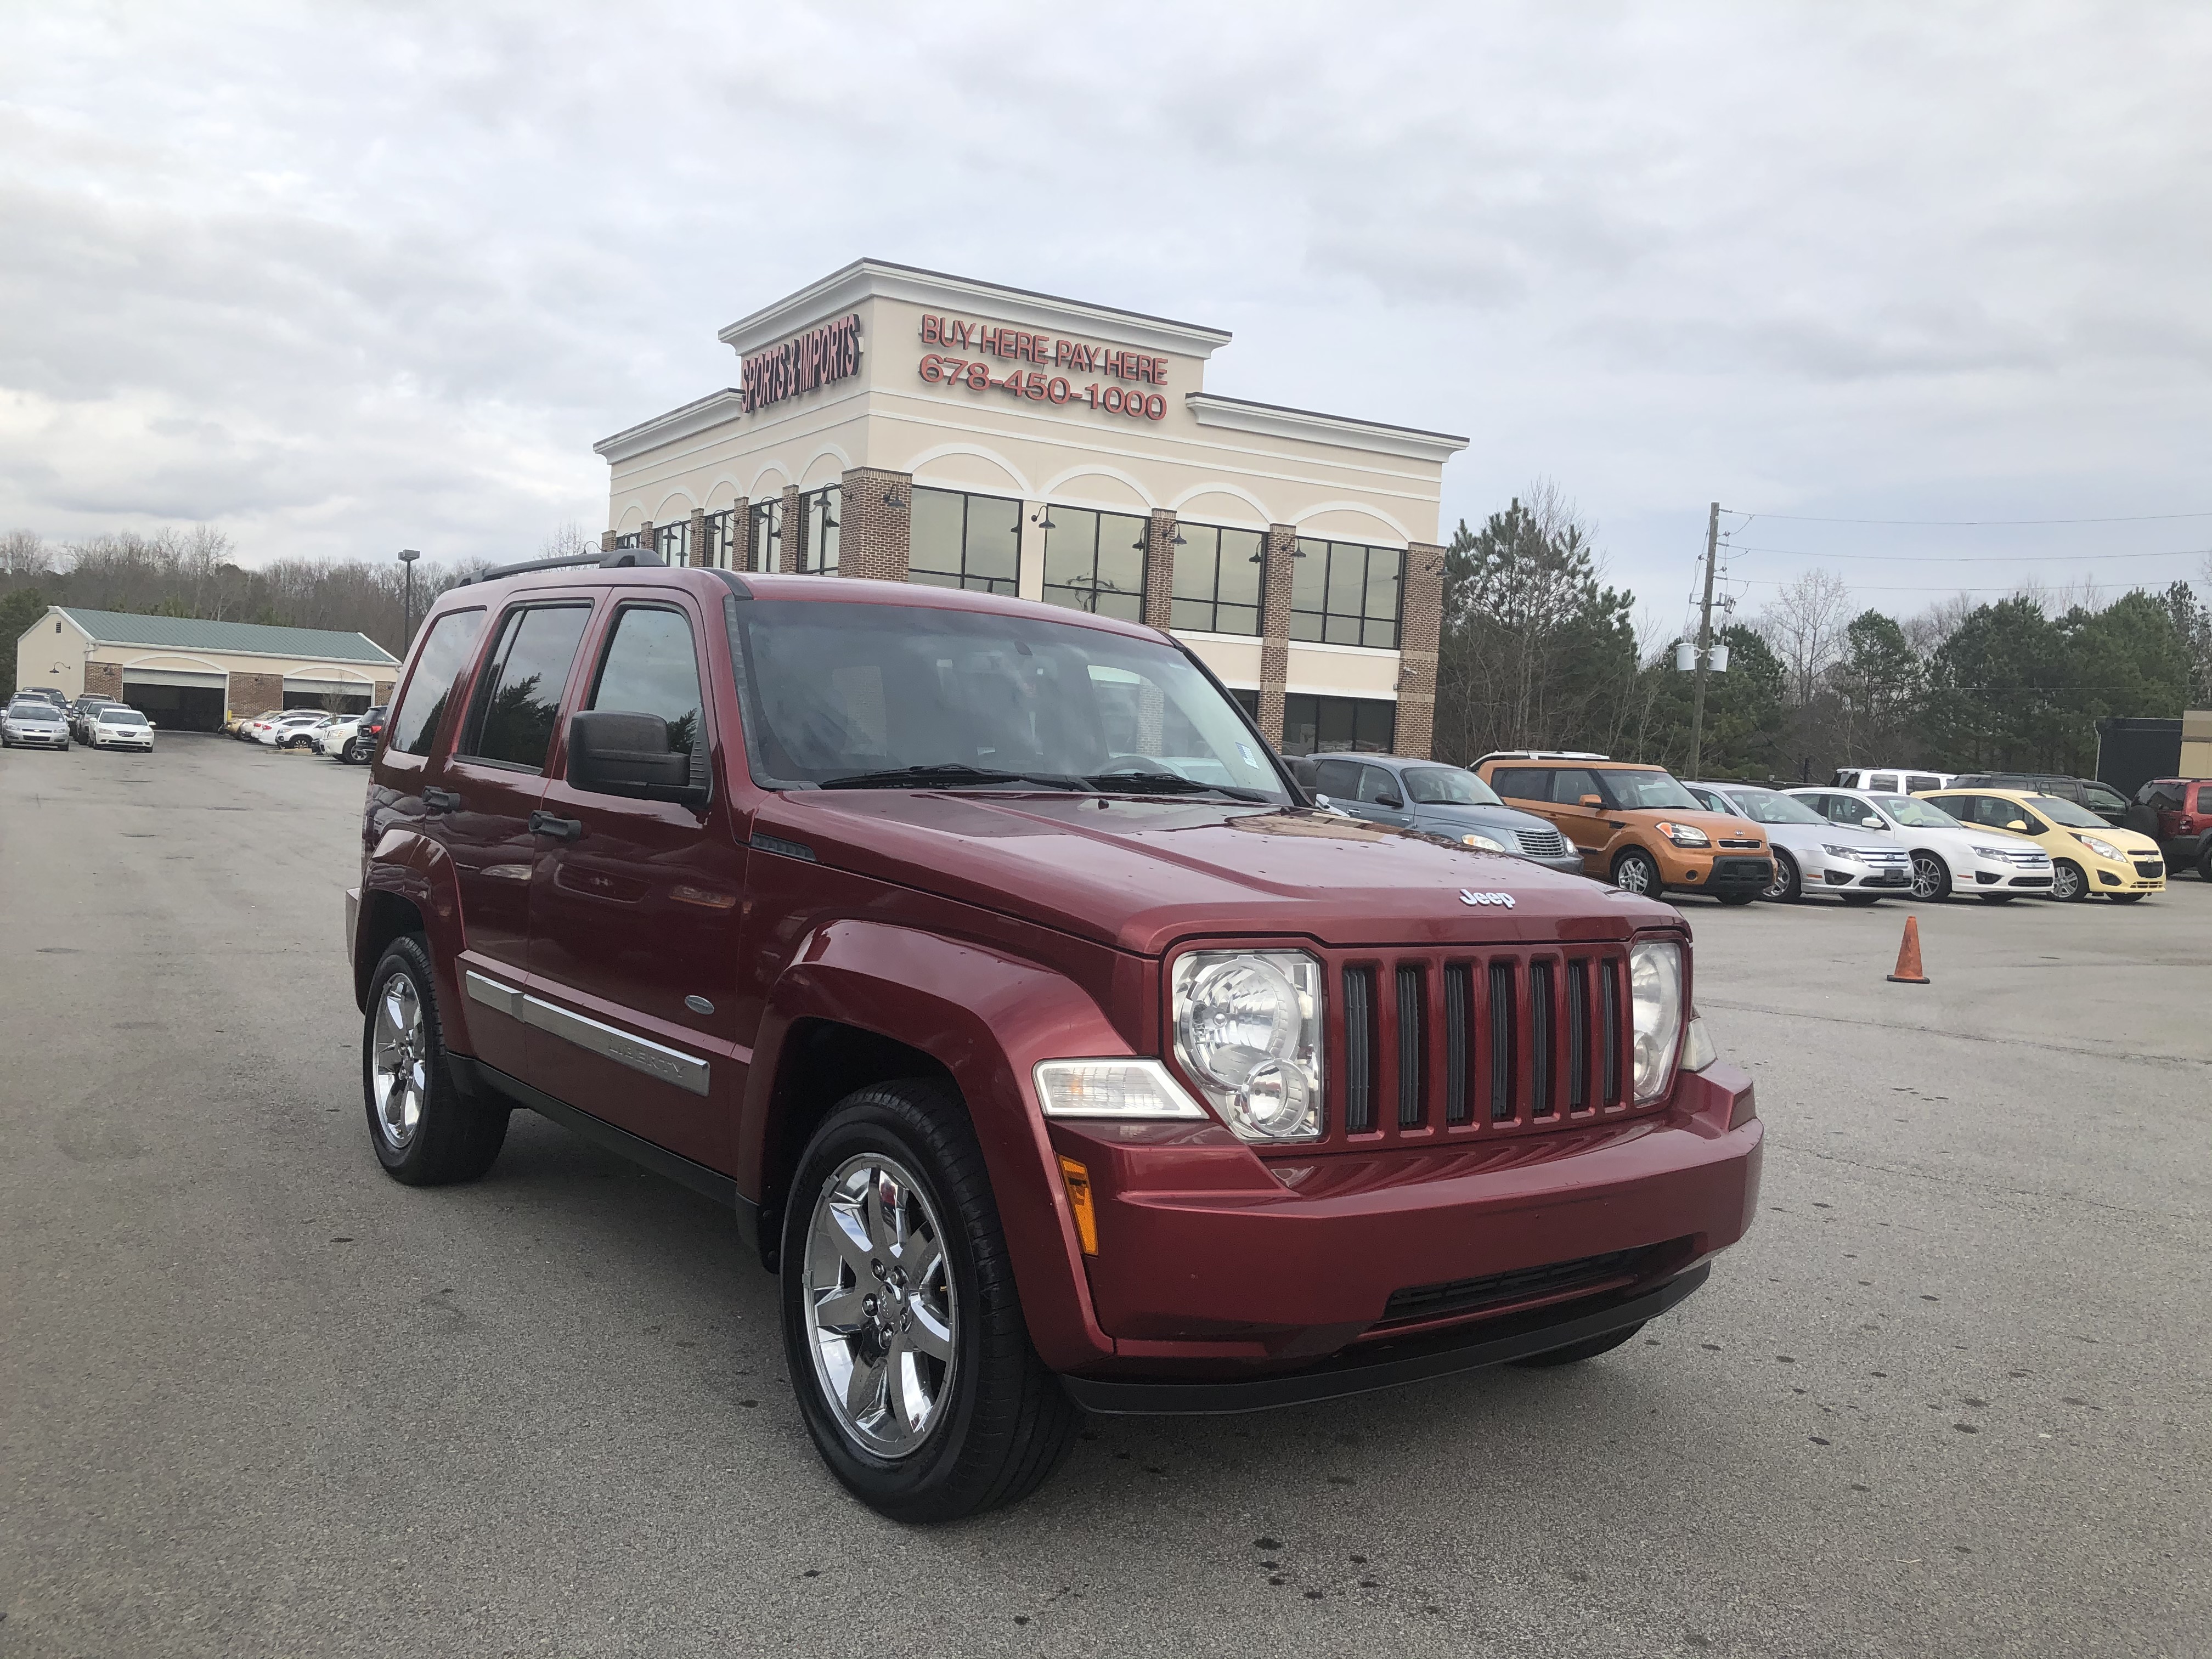
<path fill-rule="evenodd" d="M 953 1383 L 945 1230 L 896 1159 L 838 1164 L 814 1199 L 801 1281 L 814 1380 L 863 1451 L 905 1458 L 938 1425 Z"/>

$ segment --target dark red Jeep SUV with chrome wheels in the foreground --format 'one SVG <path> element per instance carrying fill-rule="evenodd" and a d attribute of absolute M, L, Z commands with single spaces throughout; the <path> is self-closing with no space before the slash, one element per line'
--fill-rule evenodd
<path fill-rule="evenodd" d="M 883 1513 L 1024 1495 L 1084 1411 L 1582 1360 L 1743 1237 L 1674 909 L 1314 810 L 1150 628 L 635 557 L 420 630 L 369 1144 L 467 1181 L 526 1106 L 730 1203 Z"/>

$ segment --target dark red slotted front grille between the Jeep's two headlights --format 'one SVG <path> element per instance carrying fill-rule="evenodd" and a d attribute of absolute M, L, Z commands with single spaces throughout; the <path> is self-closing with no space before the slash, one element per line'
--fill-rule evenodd
<path fill-rule="evenodd" d="M 1626 1117 L 1624 945 L 1334 953 L 1325 1144 Z"/>

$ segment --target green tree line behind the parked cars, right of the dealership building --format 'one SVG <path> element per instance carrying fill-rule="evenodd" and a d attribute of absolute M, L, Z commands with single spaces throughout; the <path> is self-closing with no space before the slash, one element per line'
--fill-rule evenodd
<path fill-rule="evenodd" d="M 1681 635 L 1639 639 L 1588 524 L 1551 484 L 1464 522 L 1444 553 L 1436 754 L 1564 748 L 1683 768 Z M 2212 613 L 2194 584 L 2108 604 L 2020 593 L 1920 617 L 1856 608 L 1814 571 L 1717 637 L 1701 770 L 1827 779 L 1838 765 L 2095 770 L 2097 721 L 2212 706 Z"/>

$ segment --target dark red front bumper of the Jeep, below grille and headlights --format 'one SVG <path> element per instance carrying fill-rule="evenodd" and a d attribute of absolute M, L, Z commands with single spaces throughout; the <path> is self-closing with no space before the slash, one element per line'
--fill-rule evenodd
<path fill-rule="evenodd" d="M 1057 1119 L 1053 1146 L 1086 1166 L 1097 1206 L 1084 1267 L 1104 1347 L 1046 1360 L 1102 1411 L 1252 1409 L 1648 1318 L 1621 1310 L 1750 1225 L 1763 1139 L 1750 1093 L 1717 1064 L 1646 1117 L 1303 1161 L 1290 1148 L 1261 1161 L 1219 1124 Z M 1276 1387 L 1287 1376 L 1305 1380 Z M 1250 1405 L 1117 1407 L 1139 1396 L 1104 1385 L 1239 1385 L 1221 1398 Z"/>

